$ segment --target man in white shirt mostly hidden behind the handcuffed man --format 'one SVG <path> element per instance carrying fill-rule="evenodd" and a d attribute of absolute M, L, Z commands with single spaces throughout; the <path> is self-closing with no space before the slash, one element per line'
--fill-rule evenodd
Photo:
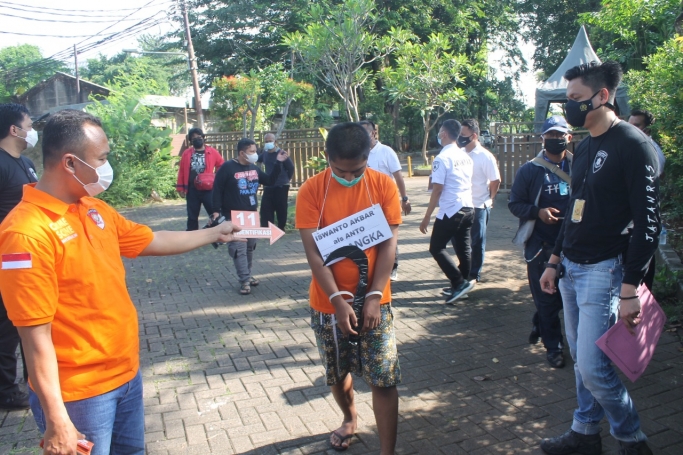
<path fill-rule="evenodd" d="M 398 160 L 398 155 L 388 145 L 382 144 L 377 138 L 377 125 L 370 120 L 363 120 L 358 122 L 365 128 L 365 131 L 370 135 L 370 155 L 368 156 L 368 167 L 374 169 L 389 177 L 393 177 L 398 187 L 398 192 L 401 194 L 401 208 L 406 215 L 410 214 L 410 201 L 406 193 L 406 185 L 403 181 L 403 174 L 401 173 L 401 162 Z M 391 281 L 398 281 L 398 245 L 396 246 L 396 256 L 394 259 L 394 268 L 391 270 Z"/>

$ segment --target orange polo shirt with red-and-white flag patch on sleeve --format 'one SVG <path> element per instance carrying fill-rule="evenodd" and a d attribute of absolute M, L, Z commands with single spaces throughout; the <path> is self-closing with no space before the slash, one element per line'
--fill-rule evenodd
<path fill-rule="evenodd" d="M 24 187 L 0 225 L 0 292 L 17 327 L 52 323 L 64 401 L 110 392 L 139 368 L 138 319 L 121 256 L 154 238 L 99 199 L 66 204 Z"/>

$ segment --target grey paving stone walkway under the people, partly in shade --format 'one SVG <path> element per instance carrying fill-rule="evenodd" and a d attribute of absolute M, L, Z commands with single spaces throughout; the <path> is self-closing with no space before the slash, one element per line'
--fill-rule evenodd
<path fill-rule="evenodd" d="M 541 453 L 542 437 L 569 427 L 574 373 L 571 362 L 550 368 L 540 345 L 526 342 L 533 303 L 510 243 L 517 220 L 507 195 L 492 212 L 483 282 L 451 306 L 418 230 L 426 179 L 407 183 L 414 212 L 400 229 L 393 285 L 403 371 L 397 453 Z M 154 229 L 185 226 L 184 205 L 124 213 Z M 341 414 L 309 328 L 311 274 L 297 233 L 259 243 L 254 273 L 262 284 L 250 296 L 238 294 L 225 247 L 126 266 L 140 317 L 149 454 L 335 453 L 327 441 Z M 680 347 L 663 334 L 646 374 L 628 383 L 656 454 L 683 453 Z M 360 425 L 347 453 L 378 453 L 369 388 L 358 379 L 356 389 Z M 616 454 L 603 427 L 604 453 Z M 0 455 L 30 453 L 39 438 L 30 412 L 0 411 Z"/>

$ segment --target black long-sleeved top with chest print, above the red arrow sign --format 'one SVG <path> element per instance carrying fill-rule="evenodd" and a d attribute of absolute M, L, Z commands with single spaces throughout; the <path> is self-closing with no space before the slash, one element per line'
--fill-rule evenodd
<path fill-rule="evenodd" d="M 281 164 L 276 164 L 271 173 L 266 174 L 254 164 L 244 166 L 234 159 L 226 161 L 218 169 L 213 184 L 214 210 L 220 209 L 226 219 L 230 219 L 232 210 L 255 211 L 259 184 L 275 183 L 280 172 Z"/>

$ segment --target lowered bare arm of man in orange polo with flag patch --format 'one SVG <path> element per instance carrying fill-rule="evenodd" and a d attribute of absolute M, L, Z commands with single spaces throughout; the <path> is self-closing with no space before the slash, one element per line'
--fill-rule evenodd
<path fill-rule="evenodd" d="M 43 453 L 75 454 L 78 439 L 83 435 L 71 422 L 62 399 L 57 355 L 52 344 L 52 324 L 18 327 L 18 330 L 26 356 L 31 386 L 38 395 L 45 413 Z"/>

